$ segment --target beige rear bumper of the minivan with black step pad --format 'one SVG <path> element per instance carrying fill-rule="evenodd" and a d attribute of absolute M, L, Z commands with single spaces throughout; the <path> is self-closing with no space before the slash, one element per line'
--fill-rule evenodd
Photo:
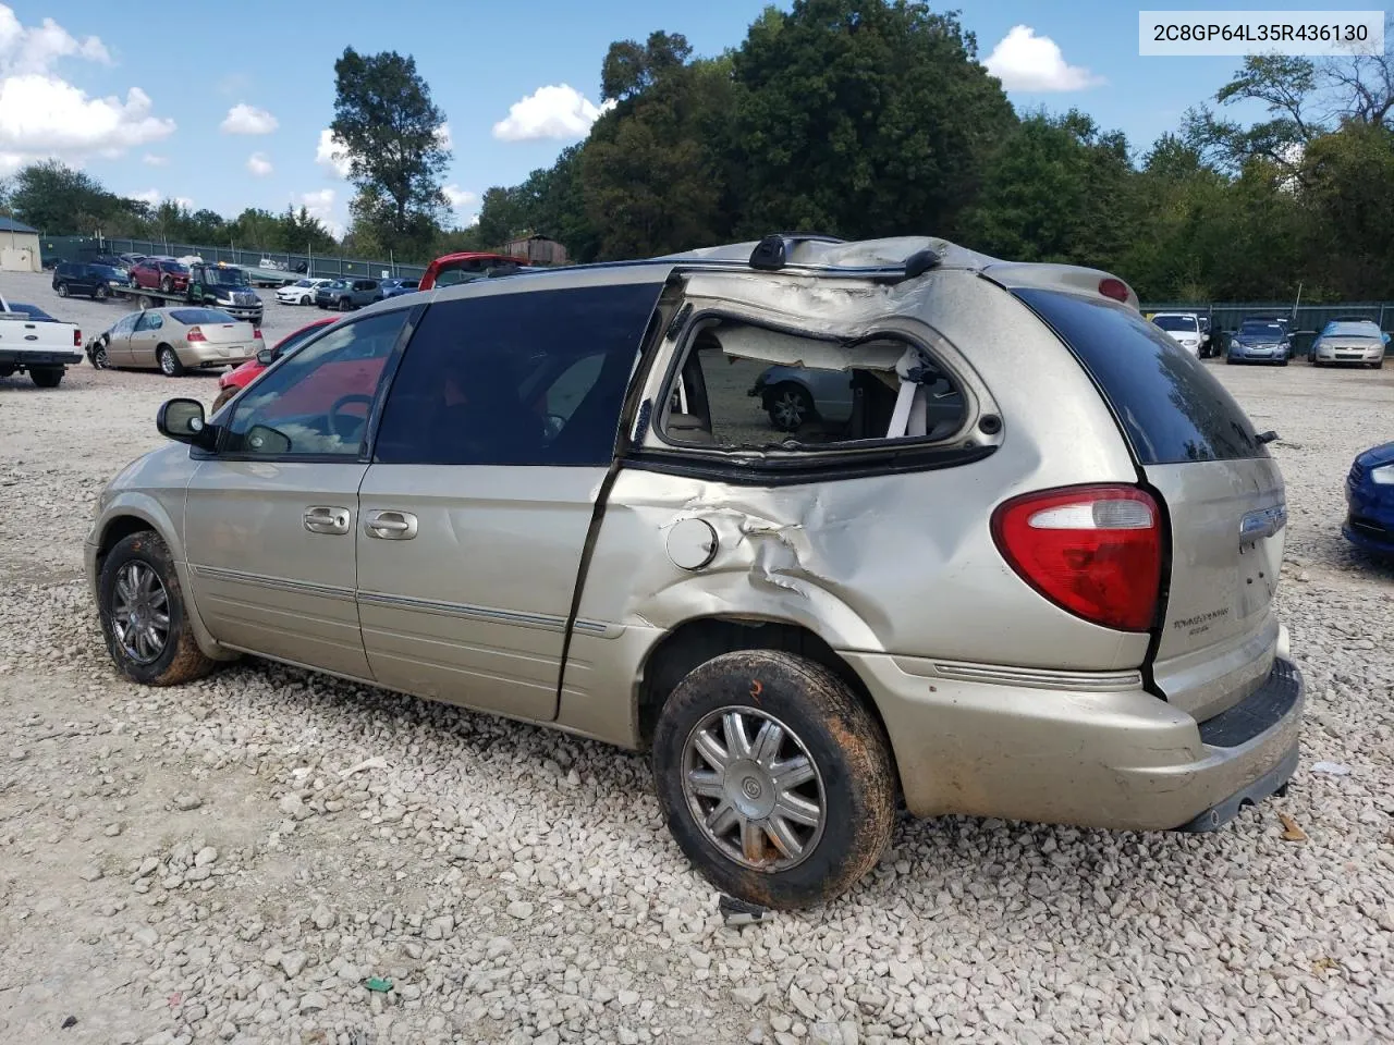
<path fill-rule="evenodd" d="M 1197 723 L 1140 683 L 1022 686 L 1005 672 L 1001 683 L 963 681 L 930 660 L 843 656 L 881 711 L 919 816 L 1213 829 L 1296 765 L 1303 683 L 1284 659 L 1249 697 Z"/>

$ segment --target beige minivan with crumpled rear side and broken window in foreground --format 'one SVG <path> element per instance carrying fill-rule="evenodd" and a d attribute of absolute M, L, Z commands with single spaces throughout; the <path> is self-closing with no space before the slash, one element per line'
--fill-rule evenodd
<path fill-rule="evenodd" d="M 845 424 L 774 429 L 769 366 L 845 375 Z M 1103 272 L 769 237 L 480 280 L 158 428 L 86 541 L 121 673 L 252 653 L 647 751 L 761 904 L 849 888 L 898 797 L 1211 830 L 1298 761 L 1273 436 Z"/>

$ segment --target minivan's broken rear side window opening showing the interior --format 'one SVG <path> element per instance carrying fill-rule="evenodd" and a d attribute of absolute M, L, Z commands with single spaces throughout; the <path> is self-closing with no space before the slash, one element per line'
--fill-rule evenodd
<path fill-rule="evenodd" d="M 965 419 L 962 389 L 920 346 L 842 344 L 722 319 L 691 336 L 659 432 L 679 444 L 788 449 L 942 440 Z"/>

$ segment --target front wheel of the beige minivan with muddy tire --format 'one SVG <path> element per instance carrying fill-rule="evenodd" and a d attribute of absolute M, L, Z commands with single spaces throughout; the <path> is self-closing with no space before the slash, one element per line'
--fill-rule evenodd
<path fill-rule="evenodd" d="M 153 531 L 131 534 L 107 553 L 98 591 L 107 653 L 131 681 L 178 686 L 216 666 L 194 641 L 174 560 Z"/>

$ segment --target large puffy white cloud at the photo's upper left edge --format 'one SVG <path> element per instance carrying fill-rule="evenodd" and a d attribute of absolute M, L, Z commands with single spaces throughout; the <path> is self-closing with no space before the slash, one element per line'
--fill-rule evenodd
<path fill-rule="evenodd" d="M 88 98 L 53 71 L 61 59 L 112 61 L 96 36 L 79 40 L 52 18 L 25 28 L 0 4 L 0 173 L 50 156 L 68 163 L 120 156 L 174 132 L 173 120 L 151 114 L 151 98 L 139 88 L 124 100 Z"/>

